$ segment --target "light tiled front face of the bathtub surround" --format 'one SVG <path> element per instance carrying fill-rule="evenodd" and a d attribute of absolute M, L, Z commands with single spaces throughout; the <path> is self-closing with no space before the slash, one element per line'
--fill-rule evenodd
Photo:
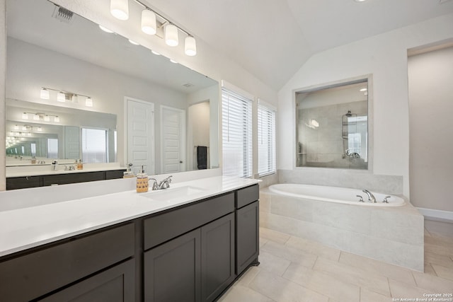
<path fill-rule="evenodd" d="M 403 207 L 285 197 L 260 191 L 260 226 L 423 272 L 423 215 Z"/>

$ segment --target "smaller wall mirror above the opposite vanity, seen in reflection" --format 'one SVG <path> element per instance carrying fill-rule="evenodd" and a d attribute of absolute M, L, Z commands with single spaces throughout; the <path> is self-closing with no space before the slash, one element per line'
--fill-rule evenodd
<path fill-rule="evenodd" d="M 6 100 L 6 165 L 53 159 L 115 162 L 116 115 Z"/>

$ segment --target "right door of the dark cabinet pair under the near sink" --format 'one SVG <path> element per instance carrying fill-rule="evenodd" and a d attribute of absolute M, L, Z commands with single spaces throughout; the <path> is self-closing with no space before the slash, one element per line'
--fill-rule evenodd
<path fill-rule="evenodd" d="M 201 228 L 202 301 L 213 301 L 234 274 L 234 213 Z"/>

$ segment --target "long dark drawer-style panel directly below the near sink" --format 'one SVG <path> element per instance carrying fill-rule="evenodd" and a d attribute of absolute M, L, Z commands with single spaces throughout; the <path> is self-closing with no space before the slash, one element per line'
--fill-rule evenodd
<path fill-rule="evenodd" d="M 146 219 L 144 249 L 148 250 L 232 211 L 233 192 Z"/>

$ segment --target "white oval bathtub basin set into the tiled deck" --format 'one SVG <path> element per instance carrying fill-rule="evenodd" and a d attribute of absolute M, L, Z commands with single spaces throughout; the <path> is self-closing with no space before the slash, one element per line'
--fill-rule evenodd
<path fill-rule="evenodd" d="M 277 184 L 269 187 L 270 192 L 291 197 L 320 200 L 323 202 L 338 202 L 340 204 L 357 204 L 367 207 L 401 207 L 405 204 L 401 197 L 372 192 L 377 202 L 368 202 L 365 192 L 358 189 L 343 187 L 327 187 L 321 185 Z M 364 202 L 359 202 L 362 196 Z M 387 202 L 382 202 L 387 197 Z"/>

